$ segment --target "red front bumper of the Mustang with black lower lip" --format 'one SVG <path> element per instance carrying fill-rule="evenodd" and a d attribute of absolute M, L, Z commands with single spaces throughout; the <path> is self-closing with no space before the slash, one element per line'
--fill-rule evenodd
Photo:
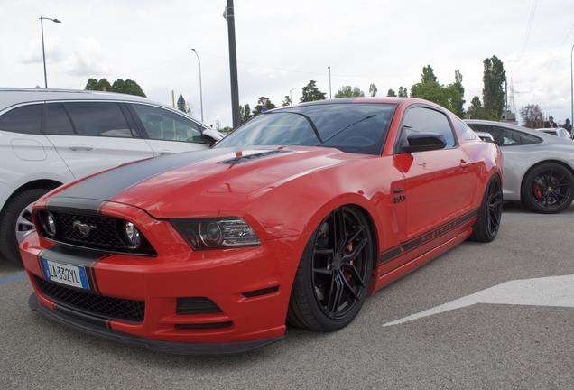
<path fill-rule="evenodd" d="M 35 291 L 30 307 L 51 320 L 158 351 L 226 355 L 282 339 L 292 280 L 306 243 L 300 238 L 145 257 L 48 247 L 32 233 L 21 255 Z M 49 281 L 42 259 L 85 267 L 89 289 Z M 79 303 L 85 299 L 90 303 Z M 142 302 L 144 315 L 130 319 L 101 309 L 100 303 L 116 302 Z M 204 302 L 216 310 L 202 311 Z"/>

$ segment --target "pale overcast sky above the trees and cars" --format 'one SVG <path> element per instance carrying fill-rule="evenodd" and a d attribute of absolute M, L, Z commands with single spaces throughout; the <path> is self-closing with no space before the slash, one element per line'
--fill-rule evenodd
<path fill-rule="evenodd" d="M 463 76 L 482 100 L 483 60 L 503 61 L 517 110 L 537 104 L 571 118 L 572 0 L 235 0 L 241 105 L 265 96 L 282 106 L 301 88 L 378 96 L 411 88 L 430 65 L 441 84 Z M 181 94 L 204 122 L 231 125 L 227 0 L 0 0 L 0 87 L 83 89 L 89 78 L 133 79 L 148 98 Z M 199 54 L 191 51 L 194 48 Z M 330 86 L 329 69 L 330 66 Z M 330 88 L 330 92 L 329 92 Z"/>

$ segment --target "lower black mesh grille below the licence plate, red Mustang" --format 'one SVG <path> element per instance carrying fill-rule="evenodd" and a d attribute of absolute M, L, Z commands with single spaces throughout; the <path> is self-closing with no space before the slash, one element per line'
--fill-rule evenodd
<path fill-rule="evenodd" d="M 71 309 L 103 319 L 144 322 L 145 302 L 111 298 L 52 283 L 35 276 L 42 293 Z"/>

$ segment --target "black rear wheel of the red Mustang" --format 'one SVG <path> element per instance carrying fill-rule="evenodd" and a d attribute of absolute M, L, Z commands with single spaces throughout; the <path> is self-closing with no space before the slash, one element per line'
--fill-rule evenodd
<path fill-rule="evenodd" d="M 480 242 L 490 242 L 495 239 L 502 218 L 503 192 L 500 177 L 491 176 L 486 186 L 485 196 L 478 211 L 478 218 L 472 227 L 470 239 Z"/>

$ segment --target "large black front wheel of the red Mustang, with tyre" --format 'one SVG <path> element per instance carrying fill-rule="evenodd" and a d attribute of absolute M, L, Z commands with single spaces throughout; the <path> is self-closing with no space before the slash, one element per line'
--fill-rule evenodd
<path fill-rule="evenodd" d="M 311 330 L 339 330 L 366 299 L 374 260 L 365 216 L 352 206 L 333 210 L 311 235 L 293 283 L 287 321 Z"/>

